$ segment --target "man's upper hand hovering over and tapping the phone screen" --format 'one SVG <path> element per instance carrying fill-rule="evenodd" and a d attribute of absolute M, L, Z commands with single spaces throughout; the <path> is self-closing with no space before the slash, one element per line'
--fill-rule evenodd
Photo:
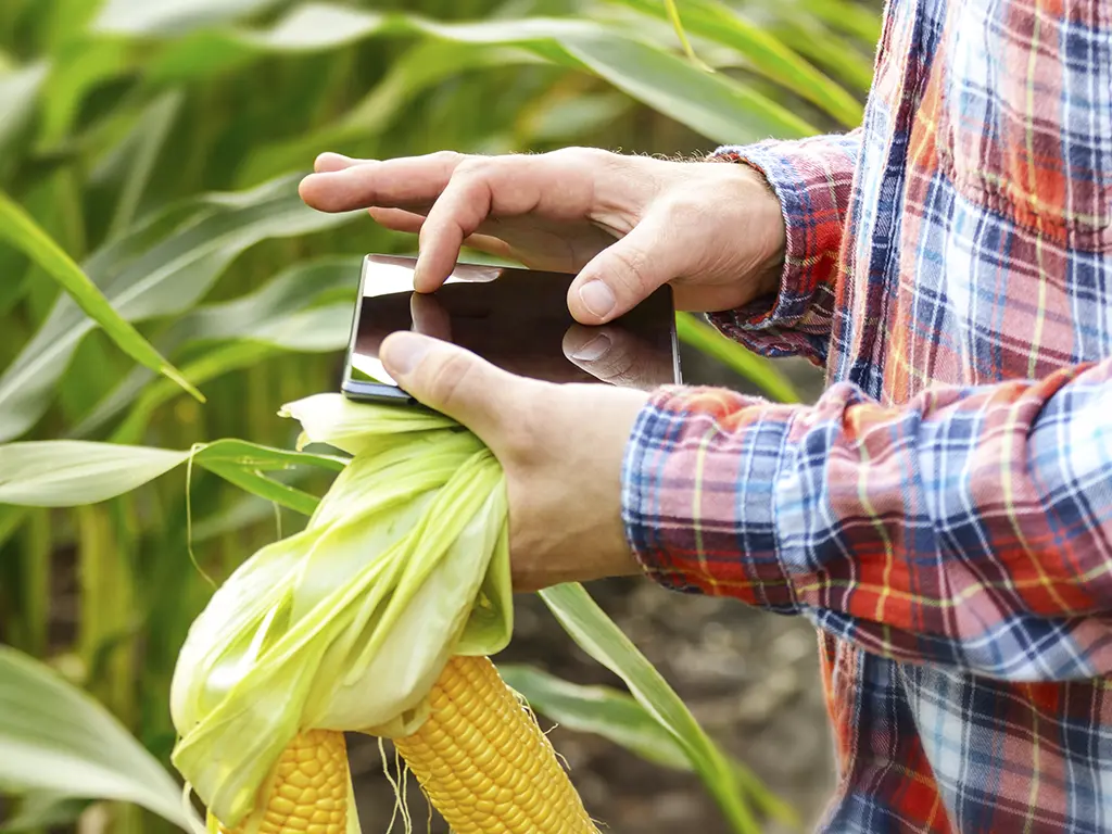
<path fill-rule="evenodd" d="M 577 272 L 568 308 L 586 325 L 609 321 L 669 281 L 681 309 L 709 311 L 774 292 L 780 279 L 780 205 L 743 165 L 568 148 L 387 161 L 325 153 L 316 170 L 301 183 L 314 208 L 366 208 L 390 229 L 420 232 L 414 280 L 423 292 L 444 282 L 465 244 Z"/>

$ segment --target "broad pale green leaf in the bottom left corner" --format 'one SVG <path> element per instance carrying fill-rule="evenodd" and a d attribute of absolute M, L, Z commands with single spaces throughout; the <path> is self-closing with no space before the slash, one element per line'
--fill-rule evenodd
<path fill-rule="evenodd" d="M 119 800 L 202 832 L 181 787 L 107 709 L 38 661 L 0 646 L 0 784 Z"/>

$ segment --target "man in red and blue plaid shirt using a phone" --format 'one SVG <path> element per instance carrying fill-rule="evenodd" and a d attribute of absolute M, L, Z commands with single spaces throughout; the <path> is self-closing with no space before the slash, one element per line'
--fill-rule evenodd
<path fill-rule="evenodd" d="M 1112 831 L 1112 3 L 891 0 L 863 127 L 676 163 L 573 149 L 318 160 L 302 193 L 662 282 L 827 369 L 814 406 L 384 361 L 506 468 L 518 587 L 644 569 L 821 629 L 828 832 Z M 635 558 L 631 558 L 629 550 Z"/>

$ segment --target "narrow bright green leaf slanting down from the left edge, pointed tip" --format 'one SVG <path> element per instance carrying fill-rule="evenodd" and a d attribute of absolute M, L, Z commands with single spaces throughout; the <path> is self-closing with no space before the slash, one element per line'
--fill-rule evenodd
<path fill-rule="evenodd" d="M 57 280 L 85 314 L 100 325 L 123 353 L 140 365 L 162 374 L 189 391 L 200 401 L 205 397 L 185 377 L 162 358 L 150 342 L 135 329 L 96 285 L 81 271 L 61 248 L 39 228 L 31 217 L 11 199 L 0 193 L 0 237 L 26 252 L 34 262 Z M 90 325 L 91 327 L 91 325 Z"/>

